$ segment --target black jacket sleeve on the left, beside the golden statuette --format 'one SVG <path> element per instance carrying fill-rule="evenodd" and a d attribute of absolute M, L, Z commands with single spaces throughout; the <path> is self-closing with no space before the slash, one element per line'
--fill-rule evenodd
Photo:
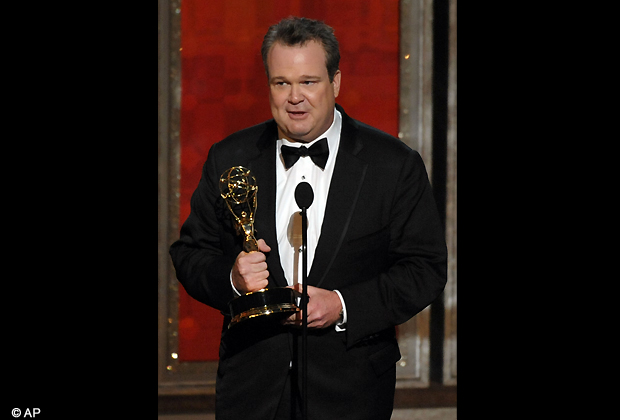
<path fill-rule="evenodd" d="M 230 235 L 225 234 L 225 217 L 219 192 L 215 144 L 202 169 L 202 177 L 191 198 L 191 211 L 181 227 L 180 238 L 170 247 L 179 282 L 194 299 L 228 313 L 235 296 L 230 284 L 234 252 L 224 252 Z"/>

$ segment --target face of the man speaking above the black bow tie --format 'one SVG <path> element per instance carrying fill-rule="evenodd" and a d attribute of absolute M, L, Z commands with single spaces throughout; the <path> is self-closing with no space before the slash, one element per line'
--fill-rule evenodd
<path fill-rule="evenodd" d="M 280 138 L 304 143 L 315 140 L 333 122 L 340 70 L 330 83 L 325 51 L 314 41 L 303 47 L 275 43 L 267 64 L 269 103 Z"/>

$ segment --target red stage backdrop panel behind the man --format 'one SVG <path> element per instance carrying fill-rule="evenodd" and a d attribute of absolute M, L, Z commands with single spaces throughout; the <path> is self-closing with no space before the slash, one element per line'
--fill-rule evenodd
<path fill-rule="evenodd" d="M 340 43 L 337 102 L 398 134 L 397 0 L 183 0 L 181 2 L 180 222 L 211 145 L 272 118 L 260 46 L 287 16 L 325 21 Z M 258 196 L 260 205 L 260 195 Z M 179 359 L 218 359 L 222 315 L 179 288 Z"/>

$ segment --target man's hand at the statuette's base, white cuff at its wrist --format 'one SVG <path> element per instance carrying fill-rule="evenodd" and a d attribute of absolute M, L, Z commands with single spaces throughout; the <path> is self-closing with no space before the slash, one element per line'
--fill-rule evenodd
<path fill-rule="evenodd" d="M 302 285 L 292 286 L 301 293 Z M 332 290 L 308 285 L 308 328 L 327 328 L 340 321 L 342 303 L 338 294 Z M 301 327 L 302 311 L 296 312 L 283 321 L 284 325 Z"/>

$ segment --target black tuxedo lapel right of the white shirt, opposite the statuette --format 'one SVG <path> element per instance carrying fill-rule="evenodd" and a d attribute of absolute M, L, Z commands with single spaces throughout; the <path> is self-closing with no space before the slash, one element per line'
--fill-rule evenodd
<path fill-rule="evenodd" d="M 356 137 L 357 128 L 342 108 L 340 147 L 332 175 L 321 236 L 314 254 L 308 284 L 320 287 L 344 240 L 359 198 L 368 164 L 356 155 L 362 144 Z"/>

